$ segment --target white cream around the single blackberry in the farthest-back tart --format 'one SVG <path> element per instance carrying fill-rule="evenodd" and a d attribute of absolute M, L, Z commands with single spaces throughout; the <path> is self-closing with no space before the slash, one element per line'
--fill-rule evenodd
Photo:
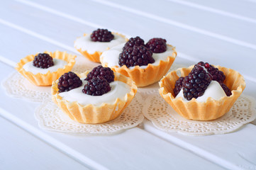
<path fill-rule="evenodd" d="M 87 50 L 89 54 L 94 54 L 96 51 L 104 52 L 108 47 L 111 48 L 124 42 L 126 42 L 126 39 L 115 33 L 113 33 L 113 40 L 111 42 L 94 42 L 91 40 L 90 35 L 87 34 L 77 38 L 74 42 L 74 47 L 77 49 L 81 48 L 82 51 Z"/>

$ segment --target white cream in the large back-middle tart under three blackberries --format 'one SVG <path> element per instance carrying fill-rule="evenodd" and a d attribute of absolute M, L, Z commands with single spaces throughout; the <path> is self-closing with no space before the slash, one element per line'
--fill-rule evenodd
<path fill-rule="evenodd" d="M 103 52 L 101 55 L 101 62 L 108 63 L 108 67 L 113 67 L 113 66 L 120 67 L 118 64 L 119 54 L 122 52 L 124 45 L 125 43 L 121 45 L 117 45 L 116 47 L 112 47 L 111 49 Z M 159 65 L 160 60 L 166 61 L 168 56 L 172 56 L 172 52 L 173 52 L 172 47 L 169 47 L 169 45 L 167 45 L 167 50 L 165 52 L 153 53 L 152 57 L 155 59 L 155 62 L 153 62 L 152 65 Z M 148 65 L 140 66 L 140 68 L 143 68 L 143 69 L 145 69 L 146 67 L 148 67 Z M 128 69 L 133 69 L 133 68 L 134 67 L 128 67 Z"/>

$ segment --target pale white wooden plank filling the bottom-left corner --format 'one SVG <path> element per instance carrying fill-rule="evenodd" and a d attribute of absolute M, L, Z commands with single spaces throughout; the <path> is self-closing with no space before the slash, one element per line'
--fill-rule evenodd
<path fill-rule="evenodd" d="M 88 169 L 0 117 L 0 169 Z"/>

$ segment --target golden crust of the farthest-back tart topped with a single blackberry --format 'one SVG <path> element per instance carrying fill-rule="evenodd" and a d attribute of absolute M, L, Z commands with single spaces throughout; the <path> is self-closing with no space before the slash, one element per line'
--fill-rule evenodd
<path fill-rule="evenodd" d="M 112 34 L 114 34 L 114 35 L 119 35 L 119 36 L 123 37 L 124 39 L 126 39 L 126 41 L 128 41 L 128 39 L 126 38 L 125 35 L 122 35 L 122 34 L 120 34 L 120 33 L 112 33 Z M 84 36 L 86 36 L 86 35 L 87 35 L 87 34 L 84 34 Z M 92 62 L 100 62 L 99 57 L 101 56 L 102 52 L 96 51 L 96 52 L 94 52 L 93 54 L 89 54 L 89 53 L 87 52 L 87 50 L 84 50 L 84 51 L 83 51 L 82 48 L 77 48 L 77 47 L 75 47 L 75 48 L 76 48 L 77 51 L 79 51 L 84 57 L 87 57 L 87 59 L 91 60 Z M 106 50 L 109 50 L 109 47 L 107 47 Z"/>

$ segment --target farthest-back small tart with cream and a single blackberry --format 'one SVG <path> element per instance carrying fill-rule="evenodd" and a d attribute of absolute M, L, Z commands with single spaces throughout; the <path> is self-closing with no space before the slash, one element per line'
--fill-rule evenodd
<path fill-rule="evenodd" d="M 97 29 L 91 35 L 84 34 L 77 38 L 74 41 L 74 47 L 92 62 L 100 62 L 99 56 L 102 52 L 124 42 L 126 42 L 124 35 L 111 33 L 106 29 Z"/>

